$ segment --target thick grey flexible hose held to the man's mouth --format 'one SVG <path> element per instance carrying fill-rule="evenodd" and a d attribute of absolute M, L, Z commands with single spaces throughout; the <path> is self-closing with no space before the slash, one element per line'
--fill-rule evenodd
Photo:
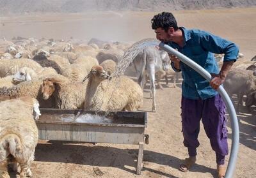
<path fill-rule="evenodd" d="M 189 57 L 184 56 L 174 48 L 164 44 L 161 42 L 159 44 L 159 47 L 168 52 L 169 54 L 173 54 L 174 56 L 177 56 L 182 63 L 188 65 L 189 67 L 193 68 L 193 70 L 197 71 L 204 77 L 206 80 L 209 82 L 211 81 L 211 74 L 206 71 L 204 68 L 202 68 L 200 65 L 189 59 Z M 231 119 L 231 128 L 232 128 L 232 145 L 231 145 L 231 151 L 230 151 L 230 158 L 228 161 L 228 167 L 227 167 L 227 172 L 225 175 L 225 178 L 232 178 L 232 175 L 234 174 L 234 170 L 236 168 L 236 159 L 237 159 L 237 154 L 238 154 L 238 149 L 239 149 L 239 126 L 238 126 L 238 121 L 237 121 L 237 116 L 236 116 L 236 110 L 234 108 L 234 105 L 232 101 L 230 100 L 227 92 L 225 89 L 220 86 L 218 89 L 218 92 L 220 93 L 221 97 L 223 98 L 228 114 L 230 115 Z"/>

